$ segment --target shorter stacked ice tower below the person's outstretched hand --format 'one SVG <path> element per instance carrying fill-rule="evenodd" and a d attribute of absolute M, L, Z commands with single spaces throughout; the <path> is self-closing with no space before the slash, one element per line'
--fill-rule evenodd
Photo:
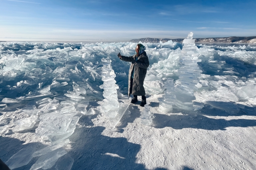
<path fill-rule="evenodd" d="M 127 110 L 127 104 L 119 104 L 118 95 L 116 89 L 118 85 L 116 84 L 116 74 L 111 66 L 110 58 L 102 58 L 102 68 L 101 68 L 101 77 L 104 82 L 100 88 L 104 89 L 103 92 L 103 103 L 101 104 L 101 112 L 110 120 L 113 127 L 115 127 L 118 122 L 121 120 L 124 112 Z"/>

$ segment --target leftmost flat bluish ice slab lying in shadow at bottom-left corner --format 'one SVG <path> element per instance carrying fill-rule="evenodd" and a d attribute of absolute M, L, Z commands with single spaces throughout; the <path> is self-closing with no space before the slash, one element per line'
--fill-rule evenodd
<path fill-rule="evenodd" d="M 14 154 L 5 164 L 10 168 L 18 168 L 24 165 L 27 165 L 30 160 L 32 160 L 32 154 L 35 152 L 35 148 L 28 147 L 20 150 L 16 154 Z"/>

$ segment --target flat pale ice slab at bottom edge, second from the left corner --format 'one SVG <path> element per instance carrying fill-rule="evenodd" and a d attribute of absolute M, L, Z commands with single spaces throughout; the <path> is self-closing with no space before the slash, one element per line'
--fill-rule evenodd
<path fill-rule="evenodd" d="M 64 156 L 65 154 L 67 154 L 66 150 L 64 150 L 63 148 L 59 148 L 48 154 L 40 156 L 36 163 L 32 165 L 30 170 L 37 170 L 39 168 L 46 170 L 48 168 L 51 168 L 57 162 L 58 158 Z"/>

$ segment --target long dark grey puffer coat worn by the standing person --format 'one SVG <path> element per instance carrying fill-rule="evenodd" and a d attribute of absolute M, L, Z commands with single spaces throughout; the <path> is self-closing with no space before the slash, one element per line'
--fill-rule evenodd
<path fill-rule="evenodd" d="M 120 60 L 123 60 L 126 62 L 132 62 L 129 70 L 129 76 L 128 76 L 128 95 L 130 96 L 130 94 L 133 94 L 137 96 L 144 96 L 146 95 L 146 92 L 143 87 L 143 84 L 147 74 L 147 68 L 149 66 L 148 56 L 144 51 L 142 54 L 140 54 L 140 56 L 138 56 L 137 61 L 135 61 L 136 60 L 135 58 L 136 58 L 136 54 L 130 57 L 122 56 L 122 58 L 120 58 Z M 133 75 L 132 92 L 130 92 L 133 70 L 134 70 L 134 75 Z"/>

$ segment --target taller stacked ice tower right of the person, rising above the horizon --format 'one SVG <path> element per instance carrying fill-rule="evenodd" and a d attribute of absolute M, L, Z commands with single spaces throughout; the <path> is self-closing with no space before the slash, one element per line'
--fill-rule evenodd
<path fill-rule="evenodd" d="M 193 33 L 188 34 L 187 39 L 183 40 L 182 58 L 180 59 L 180 68 L 178 70 L 179 80 L 176 81 L 174 94 L 176 96 L 175 105 L 182 110 L 198 110 L 198 107 L 193 106 L 193 101 L 196 97 L 194 91 L 200 85 L 198 77 L 201 76 L 202 70 L 198 67 L 197 62 L 199 53 L 198 48 L 192 39 Z"/>

